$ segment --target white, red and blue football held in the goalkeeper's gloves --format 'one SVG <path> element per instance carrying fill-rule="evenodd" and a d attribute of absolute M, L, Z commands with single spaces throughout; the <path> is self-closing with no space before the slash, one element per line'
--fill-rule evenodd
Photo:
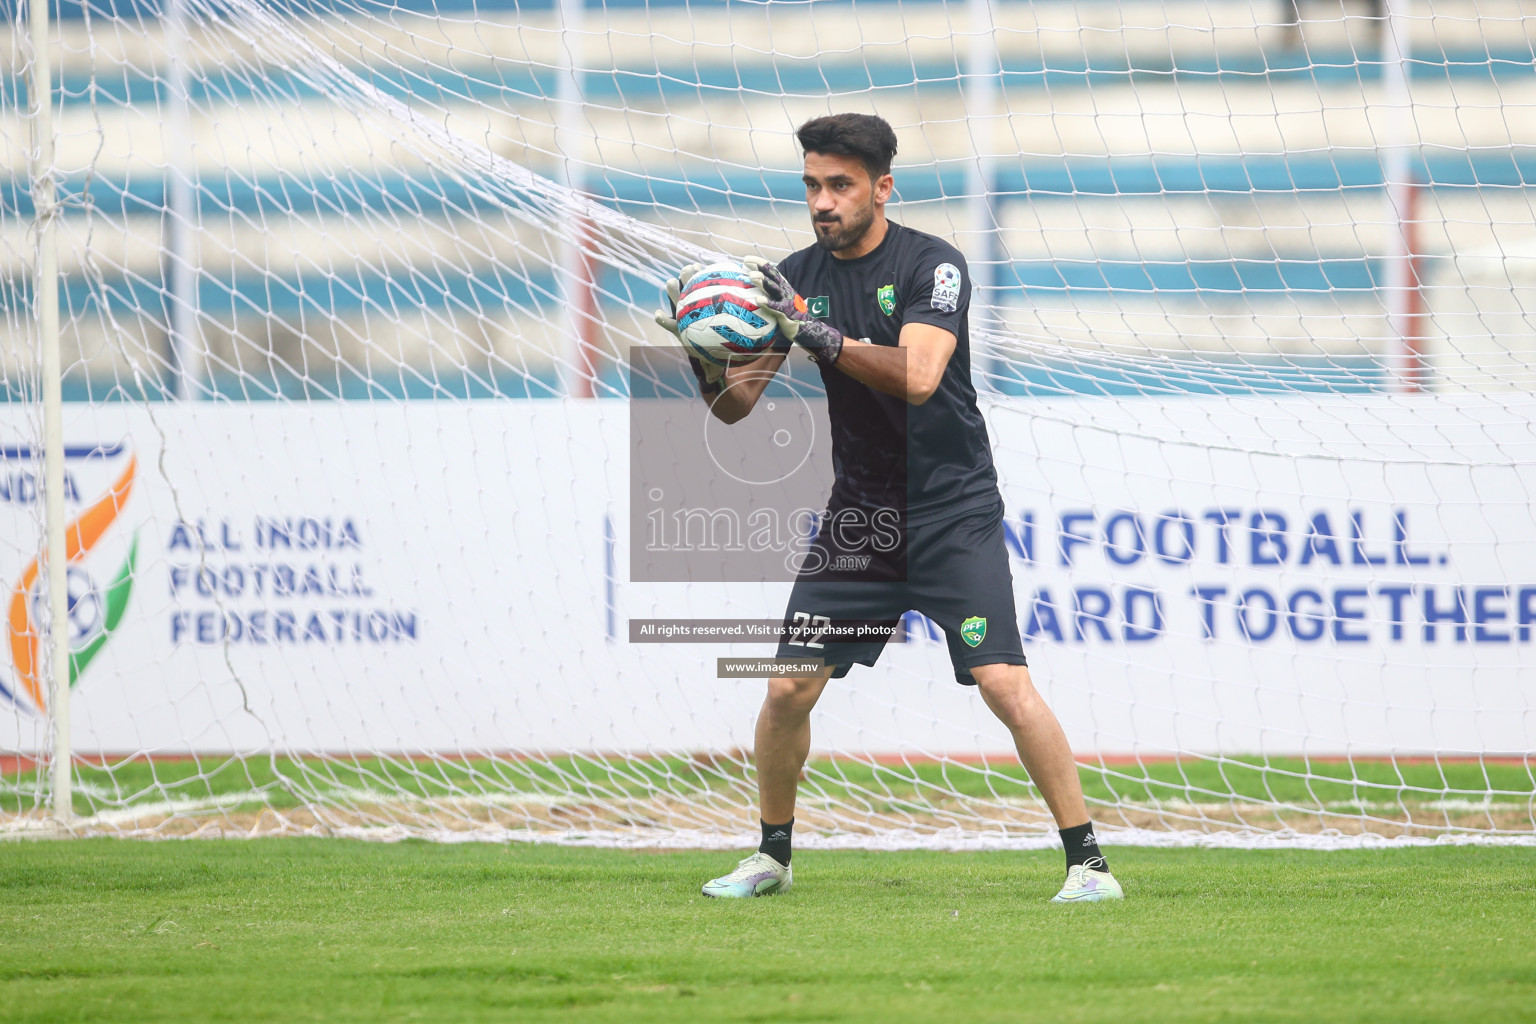
<path fill-rule="evenodd" d="M 711 263 L 682 282 L 677 335 L 688 353 L 705 362 L 751 362 L 779 338 L 779 325 L 759 309 L 765 301 L 745 266 Z"/>

